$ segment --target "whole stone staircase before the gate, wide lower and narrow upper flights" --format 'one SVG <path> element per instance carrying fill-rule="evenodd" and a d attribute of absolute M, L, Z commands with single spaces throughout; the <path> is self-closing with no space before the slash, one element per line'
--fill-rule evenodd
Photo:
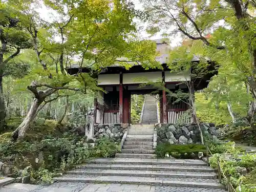
<path fill-rule="evenodd" d="M 172 187 L 170 191 L 225 191 L 218 183 L 215 170 L 202 160 L 157 159 L 153 135 L 154 125 L 132 125 L 116 158 L 89 160 L 54 180 L 70 185 L 73 182 L 118 183 Z M 163 191 L 169 191 L 165 189 Z"/>

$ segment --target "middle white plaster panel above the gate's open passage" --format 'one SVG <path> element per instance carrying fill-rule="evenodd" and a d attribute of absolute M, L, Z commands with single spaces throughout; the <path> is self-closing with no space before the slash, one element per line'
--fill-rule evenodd
<path fill-rule="evenodd" d="M 162 72 L 124 73 L 123 84 L 145 83 L 148 81 L 157 82 L 161 80 Z"/>

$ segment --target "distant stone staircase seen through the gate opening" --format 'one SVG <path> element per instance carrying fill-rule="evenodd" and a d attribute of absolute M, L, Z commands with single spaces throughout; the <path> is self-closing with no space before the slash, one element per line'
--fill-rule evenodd
<path fill-rule="evenodd" d="M 143 124 L 157 123 L 157 104 L 156 104 L 155 96 L 146 95 L 141 123 Z"/>

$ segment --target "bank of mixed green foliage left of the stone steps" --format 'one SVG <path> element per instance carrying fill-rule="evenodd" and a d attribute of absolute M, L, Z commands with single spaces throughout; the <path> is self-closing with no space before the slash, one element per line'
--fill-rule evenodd
<path fill-rule="evenodd" d="M 65 172 L 92 157 L 113 157 L 120 151 L 119 144 L 112 140 L 102 138 L 91 148 L 84 145 L 86 138 L 74 130 L 57 129 L 56 122 L 51 126 L 42 126 L 40 135 L 35 126 L 23 142 L 11 141 L 8 132 L 0 135 L 0 161 L 14 165 L 13 176 L 20 176 L 15 169 L 24 169 L 32 182 L 51 183 L 58 172 Z M 39 161 L 35 162 L 35 158 Z"/>

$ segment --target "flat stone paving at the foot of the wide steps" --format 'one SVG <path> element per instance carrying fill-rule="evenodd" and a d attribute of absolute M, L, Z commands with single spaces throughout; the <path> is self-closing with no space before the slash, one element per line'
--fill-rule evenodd
<path fill-rule="evenodd" d="M 130 184 L 54 183 L 50 186 L 13 183 L 0 192 L 225 192 L 223 189 Z"/>

